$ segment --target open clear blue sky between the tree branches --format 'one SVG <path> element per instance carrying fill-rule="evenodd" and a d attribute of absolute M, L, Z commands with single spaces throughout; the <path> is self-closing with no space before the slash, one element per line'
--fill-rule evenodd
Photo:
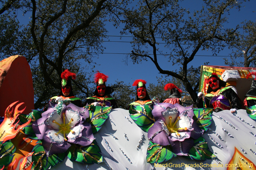
<path fill-rule="evenodd" d="M 190 8 L 190 10 L 196 9 L 199 1 L 191 0 L 189 4 L 185 4 L 188 1 L 184 1 L 182 7 Z M 201 1 L 200 1 L 201 2 Z M 244 3 L 240 11 L 236 9 L 232 9 L 230 11 L 230 16 L 228 19 L 228 25 L 230 27 L 236 27 L 237 24 L 243 22 L 245 19 L 255 21 L 256 19 L 256 1 L 250 1 Z M 121 28 L 116 29 L 112 26 L 112 23 L 107 23 L 106 25 L 108 35 L 120 36 Z M 109 37 L 109 41 L 131 41 L 131 37 Z M 104 42 L 103 46 L 106 47 L 104 53 L 122 53 L 122 54 L 99 54 L 99 59 L 95 60 L 100 66 L 96 66 L 96 70 L 106 74 L 109 76 L 107 84 L 115 83 L 115 80 L 124 81 L 124 83 L 132 84 L 136 79 L 145 79 L 148 83 L 157 83 L 156 77 L 160 77 L 159 71 L 156 69 L 156 66 L 152 61 L 143 61 L 141 64 L 133 64 L 128 58 L 128 65 L 125 65 L 123 62 L 125 60 L 126 55 L 123 53 L 130 53 L 132 50 L 131 44 L 128 42 Z M 211 51 L 202 51 L 199 50 L 194 60 L 190 63 L 190 66 L 198 67 L 204 65 L 205 62 L 210 62 L 208 65 L 221 65 L 224 66 L 224 60 L 221 56 L 228 56 L 231 50 L 225 48 L 220 51 L 218 56 L 212 57 Z M 207 55 L 207 56 L 205 56 Z M 158 63 L 164 70 L 176 70 L 179 69 L 180 66 L 172 66 L 172 63 L 167 62 L 167 58 L 164 56 L 158 56 Z M 229 57 L 228 57 L 229 58 Z"/>

